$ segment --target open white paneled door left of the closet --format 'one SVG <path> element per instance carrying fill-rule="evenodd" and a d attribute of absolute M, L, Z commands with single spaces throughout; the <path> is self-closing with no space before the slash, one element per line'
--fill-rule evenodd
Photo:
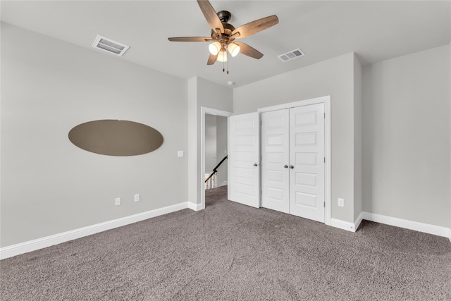
<path fill-rule="evenodd" d="M 230 116 L 228 135 L 228 199 L 259 208 L 259 113 Z"/>

